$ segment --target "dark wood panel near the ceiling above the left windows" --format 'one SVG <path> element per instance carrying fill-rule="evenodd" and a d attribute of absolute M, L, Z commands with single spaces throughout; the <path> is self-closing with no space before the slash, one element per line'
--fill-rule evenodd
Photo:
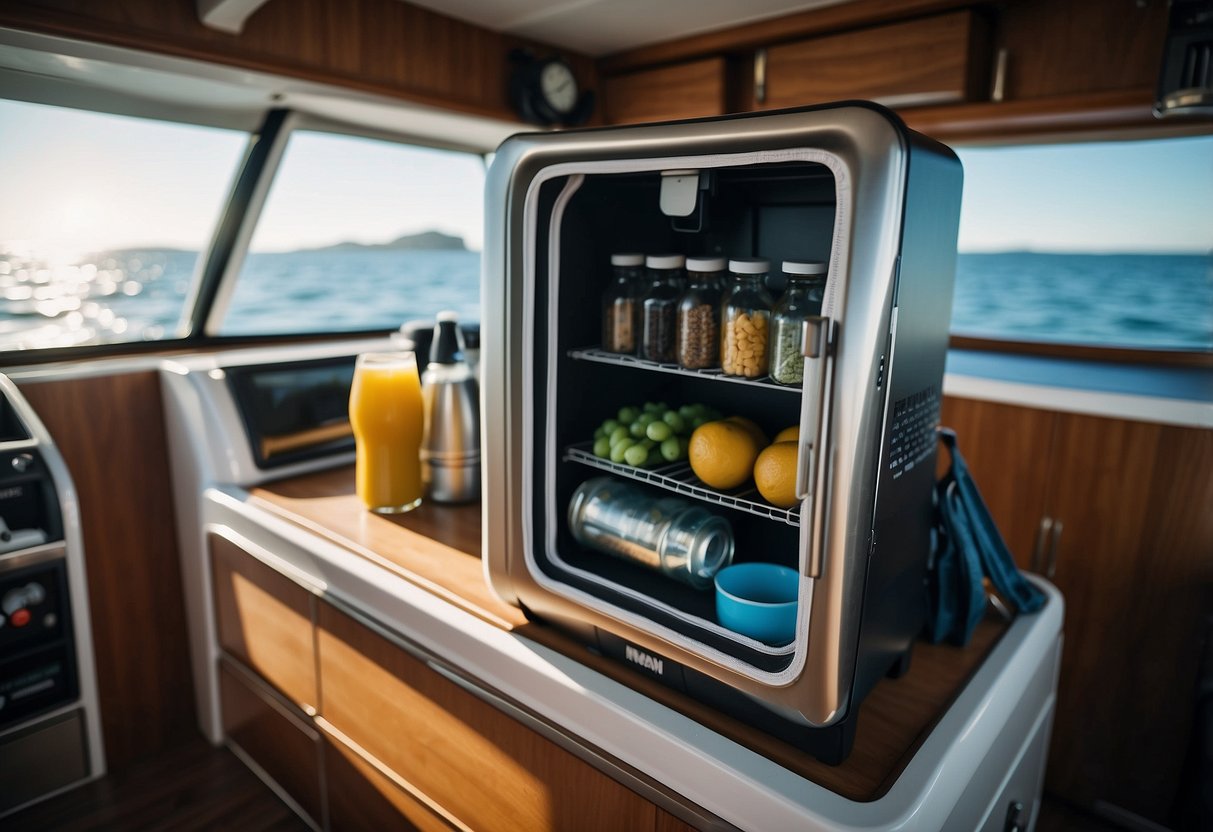
<path fill-rule="evenodd" d="M 508 53 L 542 45 L 489 32 L 400 0 L 272 0 L 239 35 L 198 22 L 194 0 L 12 0 L 0 25 L 211 61 L 516 119 Z M 583 87 L 597 75 L 565 53 Z"/>

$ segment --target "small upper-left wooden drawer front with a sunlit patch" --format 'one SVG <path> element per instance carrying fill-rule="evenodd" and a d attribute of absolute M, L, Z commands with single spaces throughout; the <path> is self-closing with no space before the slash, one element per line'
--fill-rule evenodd
<path fill-rule="evenodd" d="M 210 546 L 220 644 L 314 713 L 315 597 L 218 535 Z"/>

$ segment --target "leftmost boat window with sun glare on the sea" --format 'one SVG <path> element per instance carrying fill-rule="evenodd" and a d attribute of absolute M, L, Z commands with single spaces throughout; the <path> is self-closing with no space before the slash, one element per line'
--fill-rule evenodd
<path fill-rule="evenodd" d="M 0 99 L 0 349 L 173 337 L 247 141 Z"/>

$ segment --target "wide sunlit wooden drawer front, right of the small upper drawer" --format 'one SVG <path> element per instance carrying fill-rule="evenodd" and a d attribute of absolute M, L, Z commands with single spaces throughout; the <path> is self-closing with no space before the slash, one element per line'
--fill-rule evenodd
<path fill-rule="evenodd" d="M 474 830 L 643 830 L 656 807 L 319 604 L 321 713 Z"/>

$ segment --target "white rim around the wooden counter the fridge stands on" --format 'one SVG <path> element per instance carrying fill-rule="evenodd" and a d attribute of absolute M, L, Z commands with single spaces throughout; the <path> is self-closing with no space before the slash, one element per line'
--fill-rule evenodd
<path fill-rule="evenodd" d="M 585 745 L 741 828 L 895 830 L 941 824 L 1000 739 L 1006 714 L 1019 702 L 1061 625 L 1060 595 L 1047 587 L 1055 603 L 1008 631 L 992 661 L 984 663 L 893 788 L 878 800 L 854 803 L 246 500 L 239 488 L 207 489 L 204 524 L 245 537 L 272 566 L 363 611 Z"/>

